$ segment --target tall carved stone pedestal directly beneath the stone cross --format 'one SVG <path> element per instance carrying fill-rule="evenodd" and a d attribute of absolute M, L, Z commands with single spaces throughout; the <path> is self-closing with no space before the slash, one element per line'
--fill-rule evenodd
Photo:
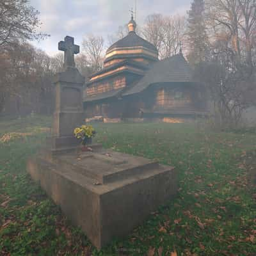
<path fill-rule="evenodd" d="M 52 125 L 52 149 L 74 148 L 79 141 L 73 131 L 83 124 L 83 84 L 84 77 L 74 67 L 67 67 L 65 72 L 57 74 L 56 107 Z"/>

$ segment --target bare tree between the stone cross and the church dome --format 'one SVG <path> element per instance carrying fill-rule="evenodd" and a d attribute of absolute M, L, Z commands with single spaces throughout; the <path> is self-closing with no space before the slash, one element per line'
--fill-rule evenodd
<path fill-rule="evenodd" d="M 83 51 L 88 57 L 93 72 L 99 71 L 103 63 L 104 39 L 102 36 L 88 35 L 83 40 Z"/>

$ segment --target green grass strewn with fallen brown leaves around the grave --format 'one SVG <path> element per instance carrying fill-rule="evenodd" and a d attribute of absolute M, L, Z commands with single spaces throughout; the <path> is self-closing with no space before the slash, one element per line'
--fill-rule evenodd
<path fill-rule="evenodd" d="M 26 174 L 51 118 L 0 122 L 0 255 L 256 255 L 256 189 L 245 152 L 253 132 L 185 124 L 97 124 L 95 141 L 179 170 L 179 193 L 124 240 L 97 252 Z M 12 132 L 16 132 L 12 133 Z M 90 220 L 88 220 L 90 221 Z"/>

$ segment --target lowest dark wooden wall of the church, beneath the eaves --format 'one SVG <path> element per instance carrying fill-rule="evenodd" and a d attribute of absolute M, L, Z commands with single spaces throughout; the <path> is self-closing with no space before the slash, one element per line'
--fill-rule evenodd
<path fill-rule="evenodd" d="M 111 98 L 99 103 L 86 104 L 86 117 L 103 116 L 108 118 L 140 118 L 143 111 L 205 111 L 204 100 L 193 86 L 167 84 L 163 87 L 148 88 L 143 93 Z"/>

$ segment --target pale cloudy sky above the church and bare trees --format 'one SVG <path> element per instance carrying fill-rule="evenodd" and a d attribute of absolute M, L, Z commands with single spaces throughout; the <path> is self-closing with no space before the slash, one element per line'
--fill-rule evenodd
<path fill-rule="evenodd" d="M 137 0 L 136 22 L 143 24 L 147 15 L 162 13 L 184 14 L 191 0 Z M 54 55 L 58 42 L 66 35 L 73 36 L 81 45 L 83 36 L 93 33 L 108 38 L 131 17 L 129 10 L 135 0 L 31 0 L 31 5 L 40 12 L 41 30 L 51 35 L 42 42 L 33 42 L 36 47 Z"/>

